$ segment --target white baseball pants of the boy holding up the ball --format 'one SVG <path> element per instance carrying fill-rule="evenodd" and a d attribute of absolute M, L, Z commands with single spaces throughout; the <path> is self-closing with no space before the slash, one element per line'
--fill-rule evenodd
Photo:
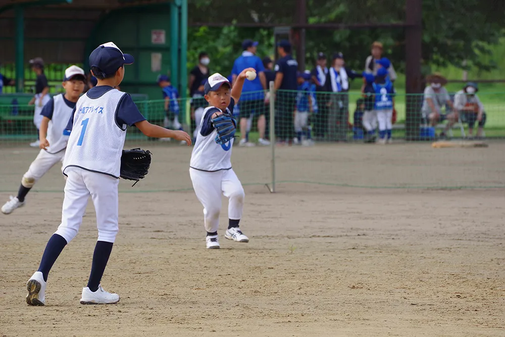
<path fill-rule="evenodd" d="M 196 198 L 204 206 L 205 230 L 217 232 L 221 213 L 221 196 L 228 201 L 228 218 L 240 220 L 244 209 L 244 189 L 233 169 L 216 172 L 189 169 Z"/>

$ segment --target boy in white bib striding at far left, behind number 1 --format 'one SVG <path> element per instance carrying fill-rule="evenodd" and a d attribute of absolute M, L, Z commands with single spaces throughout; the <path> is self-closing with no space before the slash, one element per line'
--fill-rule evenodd
<path fill-rule="evenodd" d="M 40 152 L 31 163 L 28 171 L 21 179 L 18 195 L 11 196 L 11 200 L 2 206 L 2 213 L 10 214 L 15 209 L 25 205 L 25 197 L 47 171 L 59 162 L 63 162 L 65 149 L 70 132 L 65 130 L 72 110 L 84 90 L 84 70 L 71 66 L 65 70 L 63 87 L 65 93 L 56 95 L 44 105 L 40 112 L 41 123 L 39 129 Z M 62 167 L 63 170 L 63 167 Z"/>

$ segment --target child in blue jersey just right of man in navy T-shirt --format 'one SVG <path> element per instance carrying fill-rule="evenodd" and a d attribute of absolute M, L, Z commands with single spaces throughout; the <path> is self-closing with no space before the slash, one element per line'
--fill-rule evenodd
<path fill-rule="evenodd" d="M 298 73 L 298 92 L 296 94 L 296 107 L 294 115 L 295 144 L 304 146 L 312 145 L 312 130 L 309 123 L 309 113 L 314 112 L 313 92 L 311 92 L 311 74 Z"/>

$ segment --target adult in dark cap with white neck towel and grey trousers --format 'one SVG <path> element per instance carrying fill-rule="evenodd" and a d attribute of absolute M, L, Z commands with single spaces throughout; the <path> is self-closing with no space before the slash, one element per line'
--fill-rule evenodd
<path fill-rule="evenodd" d="M 331 67 L 326 76 L 326 90 L 333 92 L 329 100 L 328 113 L 329 140 L 346 140 L 349 120 L 349 81 L 363 77 L 350 68 L 346 68 L 342 53 L 333 55 Z"/>

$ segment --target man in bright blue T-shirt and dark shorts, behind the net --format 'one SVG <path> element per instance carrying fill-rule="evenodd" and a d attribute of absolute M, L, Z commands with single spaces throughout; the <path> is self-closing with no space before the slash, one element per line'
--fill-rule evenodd
<path fill-rule="evenodd" d="M 269 145 L 270 142 L 265 139 L 265 93 L 267 89 L 267 80 L 265 78 L 265 68 L 262 60 L 256 56 L 258 42 L 246 39 L 242 42 L 242 55 L 233 63 L 232 76 L 233 83 L 238 74 L 246 68 L 254 68 L 258 76 L 252 81 L 245 81 L 240 97 L 240 135 L 239 146 L 254 146 L 245 138 L 247 119 L 251 114 L 258 116 L 258 132 L 260 138 L 259 145 Z"/>

